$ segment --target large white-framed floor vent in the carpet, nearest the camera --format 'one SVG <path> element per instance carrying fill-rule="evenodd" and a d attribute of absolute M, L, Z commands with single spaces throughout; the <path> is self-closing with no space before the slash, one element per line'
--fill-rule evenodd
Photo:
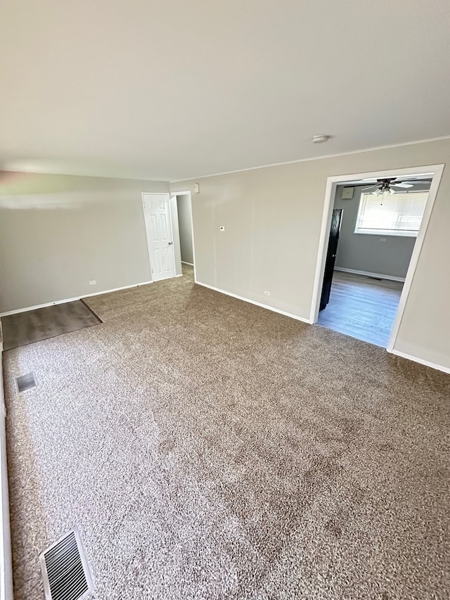
<path fill-rule="evenodd" d="M 46 600 L 82 600 L 94 591 L 78 529 L 39 554 Z"/>

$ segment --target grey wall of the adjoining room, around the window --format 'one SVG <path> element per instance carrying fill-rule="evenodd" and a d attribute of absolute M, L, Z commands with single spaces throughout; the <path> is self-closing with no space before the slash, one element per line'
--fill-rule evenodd
<path fill-rule="evenodd" d="M 352 186 L 338 186 L 336 189 L 334 206 L 342 208 L 344 212 L 335 266 L 404 279 L 416 238 L 355 234 L 361 190 L 367 186 L 355 187 L 353 198 L 342 200 L 342 190 L 345 187 Z M 417 185 L 415 189 L 422 191 L 430 187 Z"/>

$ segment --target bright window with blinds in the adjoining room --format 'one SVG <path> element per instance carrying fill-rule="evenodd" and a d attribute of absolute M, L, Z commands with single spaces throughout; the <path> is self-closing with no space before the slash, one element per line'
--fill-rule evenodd
<path fill-rule="evenodd" d="M 428 191 L 361 194 L 355 234 L 417 237 Z"/>

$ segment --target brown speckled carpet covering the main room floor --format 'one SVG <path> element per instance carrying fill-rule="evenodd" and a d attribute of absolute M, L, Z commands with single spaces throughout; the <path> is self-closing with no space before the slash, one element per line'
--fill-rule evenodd
<path fill-rule="evenodd" d="M 75 524 L 97 600 L 449 598 L 450 376 L 189 274 L 89 305 L 4 355 L 15 600 Z"/>

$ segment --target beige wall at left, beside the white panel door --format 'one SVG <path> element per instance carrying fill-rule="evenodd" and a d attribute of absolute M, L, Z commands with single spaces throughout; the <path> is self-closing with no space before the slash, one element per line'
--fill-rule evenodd
<path fill-rule="evenodd" d="M 167 183 L 0 176 L 0 312 L 151 280 L 141 192 Z"/>

